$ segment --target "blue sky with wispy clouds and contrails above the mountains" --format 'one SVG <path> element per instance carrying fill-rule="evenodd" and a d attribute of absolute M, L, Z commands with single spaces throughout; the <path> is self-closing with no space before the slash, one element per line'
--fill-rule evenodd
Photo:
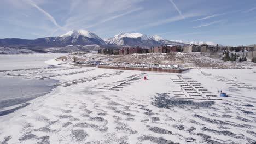
<path fill-rule="evenodd" d="M 168 40 L 256 43 L 255 0 L 1 0 L 0 38 L 35 39 L 86 29 Z"/>

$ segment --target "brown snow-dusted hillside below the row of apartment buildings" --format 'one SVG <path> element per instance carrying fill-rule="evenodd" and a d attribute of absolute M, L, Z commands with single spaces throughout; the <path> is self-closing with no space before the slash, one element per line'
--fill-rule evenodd
<path fill-rule="evenodd" d="M 218 56 L 216 56 L 218 57 Z M 185 68 L 239 68 L 235 63 L 224 62 L 220 58 L 211 58 L 200 53 L 147 53 L 124 55 L 114 59 L 115 62 L 176 64 Z"/>

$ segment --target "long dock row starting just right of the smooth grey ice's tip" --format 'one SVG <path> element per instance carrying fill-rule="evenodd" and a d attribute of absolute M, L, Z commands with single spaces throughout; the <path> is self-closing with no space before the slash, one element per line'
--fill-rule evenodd
<path fill-rule="evenodd" d="M 56 83 L 56 84 L 54 84 L 54 86 L 60 86 L 60 87 L 73 86 L 73 85 L 77 85 L 79 83 L 84 83 L 84 82 L 89 82 L 89 81 L 102 79 L 104 77 L 110 77 L 110 76 L 113 76 L 113 75 L 120 75 L 121 73 L 123 73 L 123 71 L 116 71 L 115 73 L 104 73 L 104 74 L 101 74 L 101 75 L 83 77 L 83 78 L 80 78 L 80 79 L 75 79 L 75 80 L 71 80 L 71 81 Z"/>

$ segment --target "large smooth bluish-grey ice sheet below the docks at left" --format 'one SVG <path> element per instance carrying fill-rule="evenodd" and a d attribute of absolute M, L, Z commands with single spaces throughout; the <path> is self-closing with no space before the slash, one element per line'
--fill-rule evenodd
<path fill-rule="evenodd" d="M 57 80 L 30 80 L 0 74 L 0 109 L 24 103 L 50 92 Z"/>

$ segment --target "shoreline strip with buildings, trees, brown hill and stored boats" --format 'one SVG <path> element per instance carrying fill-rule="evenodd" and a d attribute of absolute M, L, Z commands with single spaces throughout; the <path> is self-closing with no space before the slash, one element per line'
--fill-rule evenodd
<path fill-rule="evenodd" d="M 111 66 L 109 68 L 113 69 L 129 69 L 137 67 L 145 68 L 144 70 L 146 71 L 152 71 L 146 68 L 245 68 L 239 66 L 243 65 L 239 62 L 245 62 L 248 59 L 247 63 L 255 63 L 256 58 L 254 57 L 256 56 L 256 49 L 254 48 L 255 47 L 243 46 L 223 47 L 218 46 L 218 44 L 216 46 L 206 44 L 188 46 L 161 45 L 150 49 L 141 47 L 120 47 L 119 49 L 98 49 L 95 53 L 73 52 L 69 55 L 69 58 L 61 57 L 59 60 L 63 61 L 63 63 L 69 61 L 77 66 L 91 65 L 92 67 L 96 67 L 96 65 L 99 65 L 98 67 Z M 186 57 L 187 59 L 182 57 Z M 184 63 L 194 63 L 194 65 Z"/>

